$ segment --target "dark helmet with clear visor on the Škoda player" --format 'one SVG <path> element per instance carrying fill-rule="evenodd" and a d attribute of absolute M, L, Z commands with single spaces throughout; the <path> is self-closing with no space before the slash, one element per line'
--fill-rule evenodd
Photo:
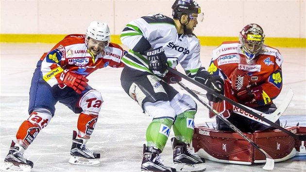
<path fill-rule="evenodd" d="M 175 0 L 172 5 L 172 16 L 176 19 L 181 19 L 183 14 L 187 14 L 188 21 L 192 19 L 192 14 L 199 14 L 198 20 L 203 21 L 203 13 L 201 7 L 193 0 Z"/>

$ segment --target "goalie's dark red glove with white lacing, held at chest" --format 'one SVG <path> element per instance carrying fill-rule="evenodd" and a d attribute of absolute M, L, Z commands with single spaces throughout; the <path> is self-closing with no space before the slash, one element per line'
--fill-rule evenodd
<path fill-rule="evenodd" d="M 261 98 L 262 87 L 252 87 L 251 76 L 247 72 L 235 69 L 232 75 L 232 88 L 239 103 L 253 103 Z M 254 85 L 254 84 L 253 84 Z"/>

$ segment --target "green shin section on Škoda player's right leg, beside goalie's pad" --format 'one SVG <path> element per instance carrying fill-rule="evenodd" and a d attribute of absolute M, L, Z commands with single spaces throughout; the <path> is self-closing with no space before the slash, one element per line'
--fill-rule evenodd
<path fill-rule="evenodd" d="M 194 115 L 195 111 L 186 111 L 177 115 L 173 125 L 175 138 L 179 142 L 191 143 L 194 130 Z"/>

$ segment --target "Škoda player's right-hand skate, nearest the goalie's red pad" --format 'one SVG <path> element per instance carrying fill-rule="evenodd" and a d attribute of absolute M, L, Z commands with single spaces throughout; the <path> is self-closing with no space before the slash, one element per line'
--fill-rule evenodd
<path fill-rule="evenodd" d="M 204 172 L 205 160 L 189 152 L 187 143 L 178 143 L 176 138 L 171 138 L 173 148 L 173 163 L 177 172 Z"/>

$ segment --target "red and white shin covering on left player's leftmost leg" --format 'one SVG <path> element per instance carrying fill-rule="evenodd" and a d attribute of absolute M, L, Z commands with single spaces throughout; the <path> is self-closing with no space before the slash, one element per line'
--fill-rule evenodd
<path fill-rule="evenodd" d="M 40 130 L 48 125 L 51 118 L 51 113 L 34 111 L 30 117 L 20 125 L 16 134 L 17 143 L 27 149 Z"/>

